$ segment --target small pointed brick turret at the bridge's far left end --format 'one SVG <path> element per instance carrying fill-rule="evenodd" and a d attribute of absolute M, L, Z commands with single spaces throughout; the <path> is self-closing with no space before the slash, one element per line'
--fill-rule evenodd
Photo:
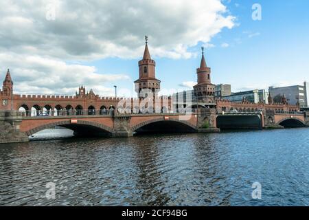
<path fill-rule="evenodd" d="M 13 96 L 13 81 L 10 74 L 10 69 L 6 73 L 5 80 L 3 81 L 1 91 L 1 109 L 12 109 L 12 96 Z"/>

